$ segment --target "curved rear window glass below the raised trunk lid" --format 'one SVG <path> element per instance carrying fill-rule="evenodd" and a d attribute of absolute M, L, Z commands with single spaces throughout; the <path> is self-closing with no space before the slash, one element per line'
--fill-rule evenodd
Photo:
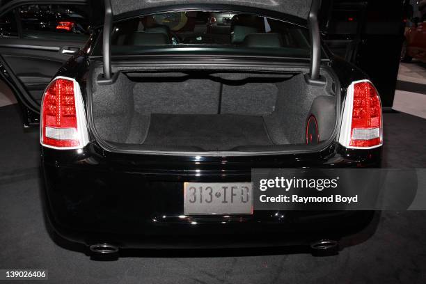
<path fill-rule="evenodd" d="M 204 50 L 308 58 L 308 29 L 277 19 L 232 12 L 188 11 L 116 22 L 113 55 Z M 102 41 L 98 42 L 102 45 Z M 195 47 L 195 49 L 194 49 Z M 172 50 L 173 50 L 172 49 Z M 100 55 L 100 48 L 97 47 Z"/>

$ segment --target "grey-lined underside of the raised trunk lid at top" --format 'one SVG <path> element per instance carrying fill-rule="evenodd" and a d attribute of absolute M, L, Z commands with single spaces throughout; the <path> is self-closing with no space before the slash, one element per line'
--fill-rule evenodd
<path fill-rule="evenodd" d="M 312 1 L 319 0 L 111 0 L 113 15 L 135 10 L 170 5 L 232 5 L 273 10 L 287 15 L 308 19 Z"/>

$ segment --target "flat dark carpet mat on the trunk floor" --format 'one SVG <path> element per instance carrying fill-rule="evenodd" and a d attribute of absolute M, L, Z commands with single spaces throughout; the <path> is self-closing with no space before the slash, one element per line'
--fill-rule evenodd
<path fill-rule="evenodd" d="M 197 146 L 206 151 L 274 145 L 262 116 L 152 113 L 143 145 Z"/>

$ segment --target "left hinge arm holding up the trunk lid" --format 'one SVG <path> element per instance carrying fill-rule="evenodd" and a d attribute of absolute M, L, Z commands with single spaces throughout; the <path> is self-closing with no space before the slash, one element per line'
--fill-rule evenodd
<path fill-rule="evenodd" d="M 105 0 L 105 19 L 104 31 L 102 37 L 102 57 L 104 62 L 104 73 L 97 77 L 97 84 L 109 85 L 113 84 L 117 79 L 117 74 L 111 71 L 111 33 L 113 26 L 113 13 L 111 0 Z"/>

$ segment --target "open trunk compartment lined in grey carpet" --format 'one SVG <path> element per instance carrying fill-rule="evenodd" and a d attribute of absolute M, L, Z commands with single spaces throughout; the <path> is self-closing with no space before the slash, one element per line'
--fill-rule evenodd
<path fill-rule="evenodd" d="M 101 72 L 95 68 L 91 80 L 93 126 L 98 139 L 116 148 L 308 150 L 310 116 L 317 121 L 319 143 L 329 140 L 336 126 L 336 85 L 326 72 L 325 86 L 313 86 L 295 71 L 122 70 L 113 84 L 100 86 L 95 78 Z"/>

